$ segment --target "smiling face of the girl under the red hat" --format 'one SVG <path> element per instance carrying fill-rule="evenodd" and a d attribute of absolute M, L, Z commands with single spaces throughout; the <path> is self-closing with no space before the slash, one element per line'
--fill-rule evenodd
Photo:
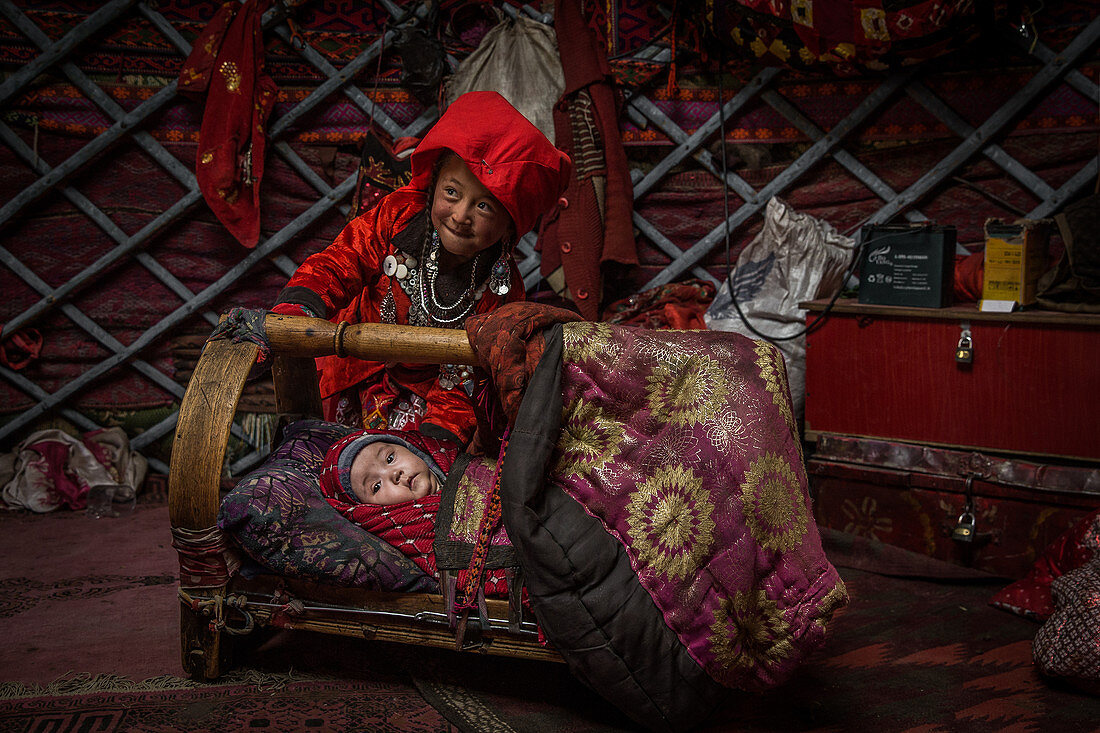
<path fill-rule="evenodd" d="M 508 211 L 461 157 L 444 153 L 431 197 L 431 225 L 459 262 L 493 247 L 515 227 Z"/>

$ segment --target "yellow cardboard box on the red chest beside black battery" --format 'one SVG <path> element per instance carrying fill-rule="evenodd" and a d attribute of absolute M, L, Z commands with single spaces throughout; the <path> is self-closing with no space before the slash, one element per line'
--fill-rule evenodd
<path fill-rule="evenodd" d="M 986 220 L 982 300 L 1035 303 L 1035 284 L 1046 272 L 1049 219 Z"/>

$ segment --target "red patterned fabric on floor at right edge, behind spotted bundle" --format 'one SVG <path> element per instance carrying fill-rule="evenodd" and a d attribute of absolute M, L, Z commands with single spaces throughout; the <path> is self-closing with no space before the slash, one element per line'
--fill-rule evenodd
<path fill-rule="evenodd" d="M 1002 588 L 990 605 L 1026 619 L 1046 621 L 1054 613 L 1050 586 L 1055 579 L 1100 557 L 1100 510 L 1050 543 L 1025 578 Z"/>

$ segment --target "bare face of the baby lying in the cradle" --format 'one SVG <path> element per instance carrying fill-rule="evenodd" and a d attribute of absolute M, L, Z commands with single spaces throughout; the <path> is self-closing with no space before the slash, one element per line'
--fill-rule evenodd
<path fill-rule="evenodd" d="M 439 491 L 439 479 L 405 446 L 372 442 L 351 463 L 351 488 L 364 504 L 398 504 Z"/>

